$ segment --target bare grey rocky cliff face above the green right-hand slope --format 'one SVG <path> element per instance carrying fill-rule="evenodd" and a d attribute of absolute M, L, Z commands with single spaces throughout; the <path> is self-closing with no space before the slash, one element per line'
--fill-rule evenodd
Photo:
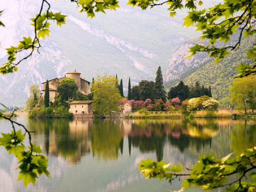
<path fill-rule="evenodd" d="M 210 59 L 207 53 L 198 53 L 190 58 L 185 58 L 189 55 L 189 48 L 194 46 L 194 44 L 196 44 L 196 41 L 185 42 L 172 54 L 166 74 L 164 75 L 165 82 L 181 77 L 187 71 Z"/>

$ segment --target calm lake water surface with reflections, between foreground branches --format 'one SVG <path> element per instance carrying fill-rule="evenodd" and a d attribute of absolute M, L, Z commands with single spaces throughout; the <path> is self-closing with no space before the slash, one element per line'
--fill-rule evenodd
<path fill-rule="evenodd" d="M 255 121 L 232 119 L 28 119 L 17 117 L 33 133 L 33 143 L 49 157 L 52 179 L 40 177 L 27 188 L 17 182 L 17 160 L 0 147 L 2 191 L 178 190 L 180 182 L 144 180 L 138 163 L 148 157 L 191 167 L 198 155 L 225 156 L 256 145 Z M 1 132 L 10 131 L 0 121 Z M 197 191 L 195 189 L 192 189 Z"/>

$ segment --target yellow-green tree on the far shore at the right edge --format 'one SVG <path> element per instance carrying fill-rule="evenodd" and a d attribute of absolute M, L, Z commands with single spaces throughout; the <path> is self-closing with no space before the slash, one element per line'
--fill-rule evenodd
<path fill-rule="evenodd" d="M 229 89 L 231 93 L 231 104 L 235 105 L 236 109 L 244 110 L 244 113 L 247 113 L 248 109 L 254 111 L 256 109 L 255 85 L 255 75 L 234 79 L 233 85 Z"/>

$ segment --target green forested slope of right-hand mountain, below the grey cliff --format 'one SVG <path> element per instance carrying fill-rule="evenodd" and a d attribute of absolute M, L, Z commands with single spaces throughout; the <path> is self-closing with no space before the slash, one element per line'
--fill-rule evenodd
<path fill-rule="evenodd" d="M 199 81 L 204 84 L 205 87 L 211 85 L 212 94 L 215 99 L 219 100 L 229 96 L 229 86 L 231 86 L 233 82 L 233 76 L 237 74 L 235 67 L 237 67 L 239 63 L 252 63 L 252 60 L 247 58 L 246 50 L 252 48 L 255 41 L 256 36 L 243 38 L 240 47 L 230 52 L 230 54 L 219 61 L 219 63 L 214 63 L 212 59 L 200 62 L 197 67 L 191 68 L 179 78 L 166 82 L 165 88 L 170 88 L 179 81 L 184 81 L 184 83 L 188 85 L 194 85 L 196 81 Z M 196 60 L 196 58 L 200 60 L 202 55 L 198 54 L 194 57 L 194 60 Z"/>

